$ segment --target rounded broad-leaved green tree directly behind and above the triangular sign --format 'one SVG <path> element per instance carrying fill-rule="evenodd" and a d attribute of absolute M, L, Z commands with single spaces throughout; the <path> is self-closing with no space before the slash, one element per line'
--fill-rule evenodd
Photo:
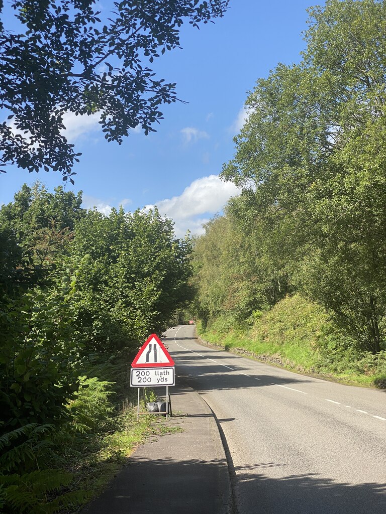
<path fill-rule="evenodd" d="M 78 267 L 73 326 L 86 351 L 129 349 L 160 334 L 188 300 L 189 251 L 157 211 L 89 211 L 70 258 Z"/>

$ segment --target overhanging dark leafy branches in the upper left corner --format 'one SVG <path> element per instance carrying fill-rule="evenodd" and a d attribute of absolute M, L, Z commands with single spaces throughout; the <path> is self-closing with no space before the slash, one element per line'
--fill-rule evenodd
<path fill-rule="evenodd" d="M 184 20 L 199 27 L 228 2 L 122 0 L 104 22 L 95 0 L 12 0 L 21 31 L 0 24 L 0 108 L 12 120 L 0 124 L 0 170 L 51 169 L 73 181 L 80 154 L 62 133 L 67 112 L 97 115 L 108 141 L 121 143 L 136 126 L 154 131 L 176 84 L 143 61 L 179 47 Z"/>

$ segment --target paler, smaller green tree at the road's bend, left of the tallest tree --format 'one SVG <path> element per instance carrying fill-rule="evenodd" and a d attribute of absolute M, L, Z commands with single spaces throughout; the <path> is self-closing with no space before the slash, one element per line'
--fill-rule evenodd
<path fill-rule="evenodd" d="M 247 193 L 231 198 L 224 215 L 205 224 L 194 241 L 195 309 L 204 322 L 220 316 L 243 325 L 289 292 L 285 267 L 253 200 Z"/>

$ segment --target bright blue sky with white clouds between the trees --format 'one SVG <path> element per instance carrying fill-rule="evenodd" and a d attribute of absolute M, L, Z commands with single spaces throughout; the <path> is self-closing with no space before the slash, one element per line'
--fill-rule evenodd
<path fill-rule="evenodd" d="M 188 104 L 164 106 L 156 133 L 133 131 L 120 146 L 104 140 L 97 119 L 68 114 L 67 137 L 82 156 L 74 168 L 75 186 L 66 190 L 82 190 L 84 207 L 106 213 L 119 205 L 129 211 L 157 205 L 173 218 L 178 236 L 187 229 L 200 233 L 202 223 L 237 194 L 218 174 L 233 156 L 232 138 L 242 125 L 248 91 L 278 62 L 300 60 L 306 9 L 317 3 L 231 0 L 215 24 L 200 30 L 184 25 L 183 49 L 165 53 L 151 66 L 167 82 L 177 82 L 178 97 Z M 100 2 L 104 13 L 112 4 Z M 0 121 L 5 118 L 0 113 Z M 9 168 L 0 175 L 0 205 L 12 201 L 24 182 L 37 179 L 49 190 L 62 183 L 58 173 Z"/>

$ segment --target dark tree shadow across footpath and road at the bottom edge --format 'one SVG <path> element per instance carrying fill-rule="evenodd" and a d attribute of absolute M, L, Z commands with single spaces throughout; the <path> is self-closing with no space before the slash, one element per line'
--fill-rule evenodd
<path fill-rule="evenodd" d="M 102 497 L 84 512 L 216 514 L 216 491 L 200 489 L 224 461 L 136 458 Z M 262 463 L 234 470 L 238 514 L 384 514 L 386 485 L 337 482 L 318 474 L 270 478 L 259 472 L 285 464 Z M 285 469 L 285 468 L 284 468 Z M 148 509 L 148 510 L 147 510 Z"/>

